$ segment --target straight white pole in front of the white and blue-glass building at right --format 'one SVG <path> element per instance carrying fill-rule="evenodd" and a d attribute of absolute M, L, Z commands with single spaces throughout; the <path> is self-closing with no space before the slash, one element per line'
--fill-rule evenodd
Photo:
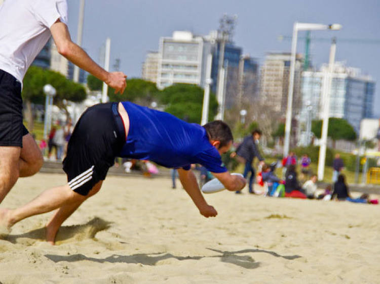
<path fill-rule="evenodd" d="M 334 61 L 335 61 L 335 50 L 336 50 L 336 38 L 332 39 L 330 48 L 330 58 L 328 63 L 327 74 L 325 74 L 324 86 L 323 86 L 323 120 L 322 120 L 322 134 L 319 146 L 319 157 L 318 157 L 318 180 L 322 180 L 325 171 L 325 159 L 326 159 L 326 147 L 327 147 L 327 130 L 328 130 L 328 118 L 330 111 L 330 94 L 331 94 L 331 80 L 332 72 L 334 71 Z"/>

